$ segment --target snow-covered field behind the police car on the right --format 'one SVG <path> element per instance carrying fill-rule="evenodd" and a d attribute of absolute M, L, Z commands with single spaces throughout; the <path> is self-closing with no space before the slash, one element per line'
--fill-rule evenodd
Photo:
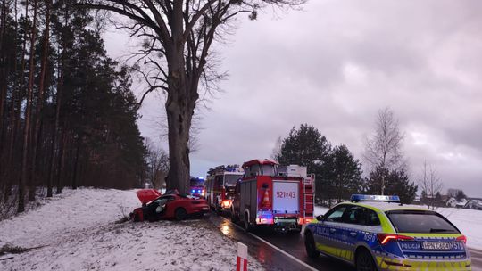
<path fill-rule="evenodd" d="M 417 206 L 424 208 L 423 206 Z M 328 211 L 326 207 L 315 207 L 315 215 L 323 215 Z M 482 210 L 438 208 L 438 213 L 449 219 L 457 226 L 461 233 L 467 236 L 467 246 L 482 250 Z"/>

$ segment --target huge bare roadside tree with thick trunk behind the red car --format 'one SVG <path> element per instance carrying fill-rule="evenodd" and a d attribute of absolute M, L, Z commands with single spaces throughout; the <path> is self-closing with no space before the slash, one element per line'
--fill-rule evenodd
<path fill-rule="evenodd" d="M 187 193 L 189 132 L 196 103 L 216 90 L 224 74 L 217 71 L 212 43 L 234 28 L 237 15 L 254 20 L 268 5 L 299 6 L 306 0 L 82 0 L 79 6 L 116 12 L 128 18 L 123 28 L 144 38 L 137 63 L 145 64 L 149 88 L 167 94 L 169 128 L 168 188 Z M 149 67 L 149 68 L 147 68 Z M 145 98 L 145 94 L 140 102 Z"/>

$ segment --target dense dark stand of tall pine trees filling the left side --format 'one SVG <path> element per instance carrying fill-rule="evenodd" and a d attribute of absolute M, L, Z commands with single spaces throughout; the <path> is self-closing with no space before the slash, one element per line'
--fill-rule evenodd
<path fill-rule="evenodd" d="M 145 175 L 131 69 L 71 2 L 0 4 L 0 204 L 18 193 L 18 211 L 38 185 L 51 196 L 54 185 L 130 188 Z"/>

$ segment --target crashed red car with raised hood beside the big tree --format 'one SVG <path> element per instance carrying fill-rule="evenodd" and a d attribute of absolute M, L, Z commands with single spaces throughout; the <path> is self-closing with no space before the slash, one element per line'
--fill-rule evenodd
<path fill-rule="evenodd" d="M 207 201 L 183 196 L 177 191 L 161 195 L 154 189 L 142 189 L 137 191 L 137 197 L 142 207 L 130 213 L 130 218 L 134 221 L 172 218 L 183 220 L 189 216 L 203 216 L 209 212 Z"/>

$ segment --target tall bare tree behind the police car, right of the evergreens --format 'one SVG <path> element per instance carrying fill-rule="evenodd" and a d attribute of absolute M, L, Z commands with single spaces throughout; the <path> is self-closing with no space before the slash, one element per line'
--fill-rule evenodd
<path fill-rule="evenodd" d="M 375 133 L 365 138 L 364 160 L 370 170 L 376 168 L 400 169 L 405 166 L 402 153 L 403 134 L 398 120 L 388 107 L 378 111 Z M 381 180 L 381 194 L 385 193 L 385 178 Z"/>

